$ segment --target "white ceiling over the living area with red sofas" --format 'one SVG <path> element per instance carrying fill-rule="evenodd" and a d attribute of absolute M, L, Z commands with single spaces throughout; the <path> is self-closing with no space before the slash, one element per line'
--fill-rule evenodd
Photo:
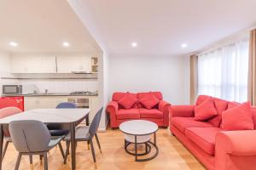
<path fill-rule="evenodd" d="M 256 24 L 255 0 L 68 2 L 110 54 L 188 54 Z"/>

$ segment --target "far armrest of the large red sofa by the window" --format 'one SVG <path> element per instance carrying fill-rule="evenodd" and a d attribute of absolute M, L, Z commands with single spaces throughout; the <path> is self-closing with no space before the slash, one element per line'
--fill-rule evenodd
<path fill-rule="evenodd" d="M 169 113 L 170 117 L 193 117 L 195 115 L 195 105 L 171 105 Z"/>

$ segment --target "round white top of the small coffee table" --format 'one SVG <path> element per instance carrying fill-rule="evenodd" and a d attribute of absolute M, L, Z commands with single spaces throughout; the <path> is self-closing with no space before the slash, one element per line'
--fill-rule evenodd
<path fill-rule="evenodd" d="M 123 133 L 131 135 L 145 135 L 151 134 L 157 131 L 158 126 L 154 122 L 143 121 L 143 120 L 133 120 L 123 122 L 119 125 L 119 129 Z"/>

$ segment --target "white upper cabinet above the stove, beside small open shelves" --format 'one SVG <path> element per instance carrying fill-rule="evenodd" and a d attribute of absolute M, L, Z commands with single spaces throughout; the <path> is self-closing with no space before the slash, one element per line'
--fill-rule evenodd
<path fill-rule="evenodd" d="M 73 71 L 91 72 L 90 57 L 57 57 L 57 72 L 71 73 Z"/>

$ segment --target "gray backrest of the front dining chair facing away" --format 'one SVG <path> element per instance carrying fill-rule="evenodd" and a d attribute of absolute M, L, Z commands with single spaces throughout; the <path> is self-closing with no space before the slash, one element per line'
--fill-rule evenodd
<path fill-rule="evenodd" d="M 14 121 L 9 123 L 9 132 L 16 150 L 23 153 L 49 150 L 50 134 L 43 122 Z"/>

